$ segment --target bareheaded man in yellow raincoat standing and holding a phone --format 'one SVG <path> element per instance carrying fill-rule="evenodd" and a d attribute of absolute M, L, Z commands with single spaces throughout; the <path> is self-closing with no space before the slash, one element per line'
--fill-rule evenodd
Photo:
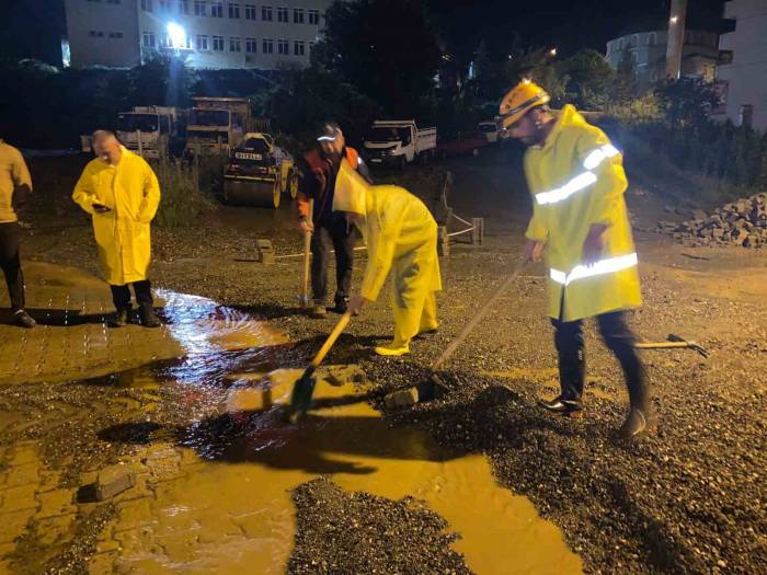
<path fill-rule="evenodd" d="M 141 324 L 158 327 L 151 285 L 149 223 L 160 204 L 160 184 L 149 164 L 119 145 L 112 133 L 93 134 L 95 160 L 85 166 L 72 199 L 93 217 L 99 257 L 117 310 L 110 321 L 124 326 L 130 317 L 133 284 Z"/>

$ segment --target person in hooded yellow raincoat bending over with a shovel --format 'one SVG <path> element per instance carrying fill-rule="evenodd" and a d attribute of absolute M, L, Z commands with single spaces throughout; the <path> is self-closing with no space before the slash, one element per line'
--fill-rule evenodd
<path fill-rule="evenodd" d="M 437 329 L 434 296 L 442 289 L 442 279 L 436 221 L 407 189 L 371 186 L 345 163 L 336 176 L 333 210 L 345 212 L 367 244 L 362 288 L 350 302 L 350 311 L 358 312 L 364 303 L 375 301 L 391 272 L 394 338 L 386 347 L 376 347 L 376 353 L 407 354 L 414 336 Z"/>

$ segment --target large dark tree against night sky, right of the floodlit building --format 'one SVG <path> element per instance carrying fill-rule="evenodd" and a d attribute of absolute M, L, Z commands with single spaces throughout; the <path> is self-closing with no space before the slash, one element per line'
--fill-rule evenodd
<path fill-rule="evenodd" d="M 314 62 L 390 114 L 414 116 L 434 90 L 440 50 L 420 0 L 335 2 Z"/>

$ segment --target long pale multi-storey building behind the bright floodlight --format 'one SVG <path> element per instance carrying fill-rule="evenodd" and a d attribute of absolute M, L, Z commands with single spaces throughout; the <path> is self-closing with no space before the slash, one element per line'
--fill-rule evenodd
<path fill-rule="evenodd" d="M 66 0 L 68 59 L 130 67 L 169 51 L 198 69 L 307 66 L 332 1 Z"/>

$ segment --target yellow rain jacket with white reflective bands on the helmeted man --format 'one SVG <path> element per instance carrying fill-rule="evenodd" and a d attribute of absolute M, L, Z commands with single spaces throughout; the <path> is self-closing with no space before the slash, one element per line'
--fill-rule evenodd
<path fill-rule="evenodd" d="M 573 106 L 564 106 L 543 146 L 525 156 L 533 218 L 525 235 L 546 242 L 549 315 L 574 321 L 642 303 L 637 252 L 623 192 L 621 154 Z M 604 223 L 599 261 L 582 265 L 583 242 Z"/>

